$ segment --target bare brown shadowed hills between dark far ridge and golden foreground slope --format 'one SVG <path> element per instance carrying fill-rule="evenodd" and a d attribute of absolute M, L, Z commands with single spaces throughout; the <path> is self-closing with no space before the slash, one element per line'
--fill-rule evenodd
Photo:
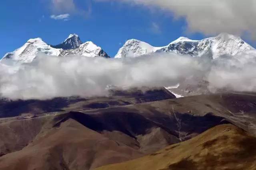
<path fill-rule="evenodd" d="M 252 93 L 100 108 L 102 101 L 93 99 L 95 107 L 90 108 L 83 109 L 87 101 L 80 101 L 69 104 L 66 111 L 0 119 L 0 169 L 88 170 L 152 154 L 224 123 L 255 135 L 256 96 Z M 210 132 L 214 137 L 220 130 Z M 234 145 L 241 149 L 247 142 Z"/>

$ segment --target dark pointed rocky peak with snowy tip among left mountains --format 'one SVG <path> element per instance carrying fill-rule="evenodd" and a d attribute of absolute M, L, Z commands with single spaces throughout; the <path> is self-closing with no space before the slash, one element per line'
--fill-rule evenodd
<path fill-rule="evenodd" d="M 79 36 L 76 34 L 70 34 L 65 41 L 58 45 L 52 45 L 53 48 L 56 49 L 76 49 L 82 44 L 82 41 L 80 40 Z"/>

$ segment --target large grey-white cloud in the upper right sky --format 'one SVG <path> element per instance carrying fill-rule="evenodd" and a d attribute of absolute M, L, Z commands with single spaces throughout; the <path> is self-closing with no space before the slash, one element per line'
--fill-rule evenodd
<path fill-rule="evenodd" d="M 215 35 L 221 32 L 256 37 L 255 0 L 95 0 L 156 6 L 185 18 L 187 31 Z"/>

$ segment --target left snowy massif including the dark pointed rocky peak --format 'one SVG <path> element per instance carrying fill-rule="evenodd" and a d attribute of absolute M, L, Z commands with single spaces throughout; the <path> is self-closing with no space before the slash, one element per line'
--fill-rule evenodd
<path fill-rule="evenodd" d="M 64 49 L 60 48 L 61 46 Z M 22 47 L 4 55 L 0 63 L 8 65 L 15 63 L 31 63 L 38 53 L 54 56 L 82 55 L 86 57 L 109 58 L 105 51 L 91 41 L 82 43 L 78 35 L 70 34 L 63 43 L 56 46 L 48 45 L 41 38 L 29 39 Z"/>

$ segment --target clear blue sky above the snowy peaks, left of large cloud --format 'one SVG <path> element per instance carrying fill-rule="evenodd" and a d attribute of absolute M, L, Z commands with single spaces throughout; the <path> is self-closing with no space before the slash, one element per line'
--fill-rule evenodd
<path fill-rule="evenodd" d="M 174 19 L 171 12 L 158 7 L 147 8 L 96 0 L 67 0 L 76 5 L 76 9 L 70 10 L 63 6 L 57 9 L 52 4 L 53 1 L 65 0 L 2 2 L 0 57 L 22 46 L 30 38 L 41 37 L 46 43 L 56 45 L 70 33 L 78 34 L 83 42 L 93 41 L 112 57 L 127 39 L 134 38 L 154 46 L 164 46 L 180 36 L 190 39 L 208 37 L 201 33 L 186 33 L 184 18 Z M 56 20 L 60 14 L 68 14 L 69 17 L 66 20 Z M 255 46 L 254 41 L 246 38 L 244 40 Z"/>

